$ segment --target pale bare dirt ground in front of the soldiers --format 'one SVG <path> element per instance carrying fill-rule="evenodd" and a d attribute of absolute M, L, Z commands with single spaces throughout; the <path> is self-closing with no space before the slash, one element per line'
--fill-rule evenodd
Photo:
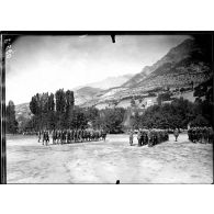
<path fill-rule="evenodd" d="M 213 145 L 187 134 L 155 147 L 129 146 L 127 135 L 105 142 L 43 146 L 36 136 L 8 136 L 8 183 L 212 183 Z"/>

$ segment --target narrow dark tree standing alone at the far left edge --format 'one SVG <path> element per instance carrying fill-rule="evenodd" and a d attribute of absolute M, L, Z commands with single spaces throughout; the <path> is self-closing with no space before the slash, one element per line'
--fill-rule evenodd
<path fill-rule="evenodd" d="M 15 105 L 13 101 L 9 101 L 5 106 L 5 132 L 10 134 L 18 132 L 18 121 L 15 120 Z"/>

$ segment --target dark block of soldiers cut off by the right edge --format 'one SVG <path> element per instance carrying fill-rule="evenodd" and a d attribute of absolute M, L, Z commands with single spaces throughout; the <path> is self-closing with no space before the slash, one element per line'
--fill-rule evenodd
<path fill-rule="evenodd" d="M 212 127 L 191 127 L 188 129 L 188 136 L 192 143 L 213 143 L 214 133 Z"/>

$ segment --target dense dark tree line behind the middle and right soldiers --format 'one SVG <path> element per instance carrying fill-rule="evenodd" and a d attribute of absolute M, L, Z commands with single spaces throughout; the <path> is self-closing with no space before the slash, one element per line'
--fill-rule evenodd
<path fill-rule="evenodd" d="M 149 106 L 143 115 L 132 116 L 134 128 L 187 128 L 190 126 L 211 125 L 210 105 L 205 102 L 192 103 L 183 98 L 174 99 L 171 103 Z M 207 111 L 207 113 L 206 113 Z"/>

